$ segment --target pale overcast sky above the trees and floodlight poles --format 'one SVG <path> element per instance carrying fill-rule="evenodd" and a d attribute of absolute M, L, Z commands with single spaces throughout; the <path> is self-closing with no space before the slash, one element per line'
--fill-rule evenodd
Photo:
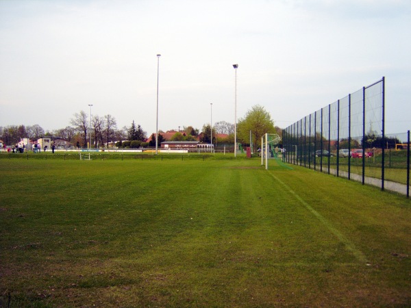
<path fill-rule="evenodd" d="M 275 125 L 386 77 L 386 133 L 411 129 L 410 0 L 0 0 L 0 126 L 111 114 L 155 131 L 262 105 Z M 211 105 L 212 103 L 212 112 Z"/>

